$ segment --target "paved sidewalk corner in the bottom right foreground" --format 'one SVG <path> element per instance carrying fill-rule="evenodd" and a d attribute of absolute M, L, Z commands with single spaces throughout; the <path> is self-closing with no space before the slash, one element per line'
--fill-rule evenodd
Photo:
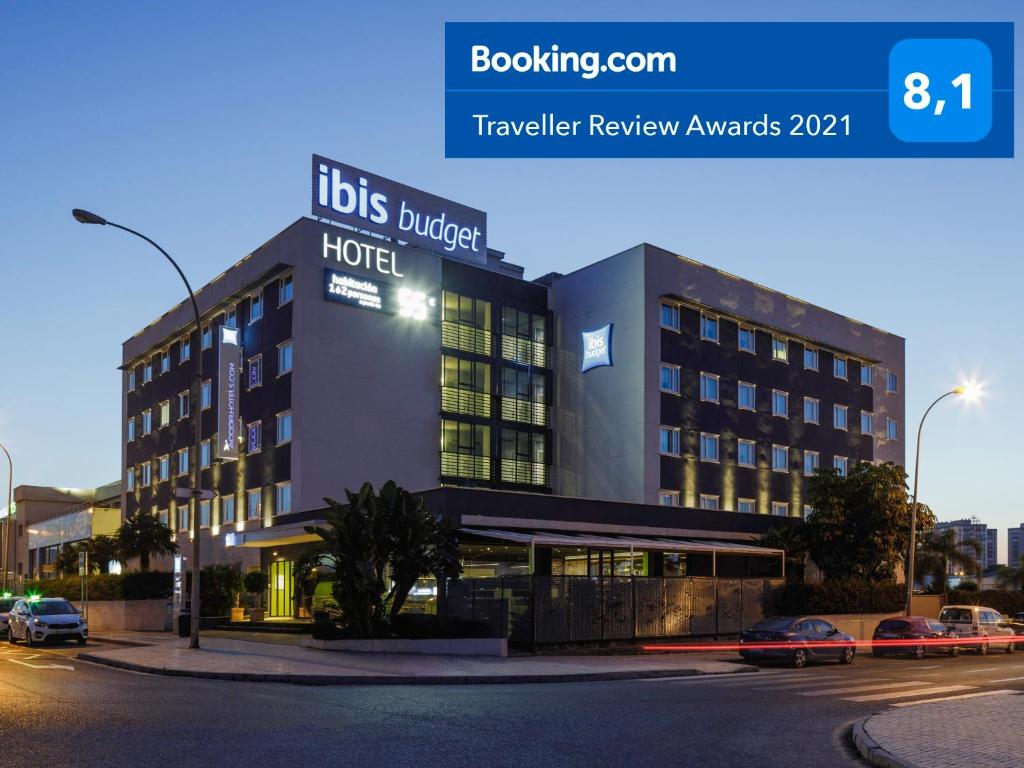
<path fill-rule="evenodd" d="M 997 691 L 887 710 L 853 726 L 853 740 L 884 768 L 1017 768 L 1024 694 Z"/>

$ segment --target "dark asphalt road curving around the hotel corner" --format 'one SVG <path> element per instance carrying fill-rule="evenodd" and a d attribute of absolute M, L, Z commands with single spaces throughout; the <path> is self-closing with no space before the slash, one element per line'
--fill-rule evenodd
<path fill-rule="evenodd" d="M 140 675 L 78 660 L 79 650 L 0 646 L 4 765 L 849 768 L 844 734 L 860 717 L 1024 689 L 1024 653 L 648 681 L 304 687 Z"/>

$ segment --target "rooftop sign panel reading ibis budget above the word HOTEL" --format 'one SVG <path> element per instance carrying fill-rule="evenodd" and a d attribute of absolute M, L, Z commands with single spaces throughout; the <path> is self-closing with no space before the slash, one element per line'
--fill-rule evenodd
<path fill-rule="evenodd" d="M 442 256 L 484 263 L 487 214 L 313 155 L 312 214 Z"/>

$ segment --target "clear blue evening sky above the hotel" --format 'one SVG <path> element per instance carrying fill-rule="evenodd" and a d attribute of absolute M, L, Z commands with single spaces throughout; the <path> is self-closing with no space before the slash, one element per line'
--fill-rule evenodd
<path fill-rule="evenodd" d="M 1019 160 L 443 158 L 444 20 L 1022 15 L 1011 2 L 834 5 L 4 4 L 0 440 L 15 483 L 118 476 L 121 342 L 182 298 L 143 244 L 71 209 L 148 233 L 202 285 L 308 213 L 315 152 L 487 211 L 490 245 L 528 276 L 647 241 L 904 336 L 914 423 L 963 376 L 988 391 L 930 417 L 922 500 L 942 519 L 1024 522 Z"/>

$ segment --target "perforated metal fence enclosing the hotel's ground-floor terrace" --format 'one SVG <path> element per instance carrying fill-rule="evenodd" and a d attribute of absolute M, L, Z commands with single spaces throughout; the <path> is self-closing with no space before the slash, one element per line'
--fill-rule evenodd
<path fill-rule="evenodd" d="M 770 613 L 781 579 L 497 577 L 447 588 L 449 615 L 517 645 L 733 635 Z"/>

